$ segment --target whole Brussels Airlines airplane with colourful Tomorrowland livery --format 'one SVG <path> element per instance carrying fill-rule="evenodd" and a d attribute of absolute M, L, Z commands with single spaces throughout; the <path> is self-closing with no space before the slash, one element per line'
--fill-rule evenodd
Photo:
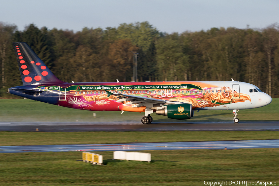
<path fill-rule="evenodd" d="M 272 98 L 257 86 L 237 81 L 189 82 L 63 82 L 55 77 L 25 42 L 13 42 L 23 86 L 8 93 L 63 107 L 91 111 L 144 112 L 141 122 L 150 124 L 152 113 L 171 119 L 190 119 L 195 110 L 259 108 Z"/>

